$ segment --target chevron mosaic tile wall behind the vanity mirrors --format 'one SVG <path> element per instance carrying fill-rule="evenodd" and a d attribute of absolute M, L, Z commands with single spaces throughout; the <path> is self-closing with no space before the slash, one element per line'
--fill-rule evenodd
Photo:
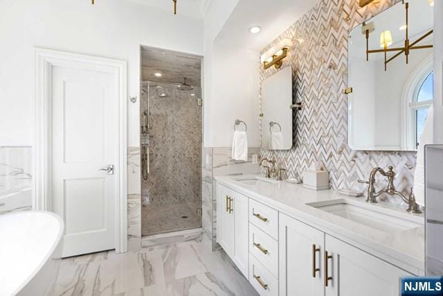
<path fill-rule="evenodd" d="M 323 162 L 332 188 L 361 191 L 365 186 L 356 180 L 368 179 L 374 166 L 392 165 L 397 172 L 397 189 L 408 191 L 413 185 L 416 153 L 351 150 L 347 146 L 347 98 L 342 94 L 347 87 L 350 31 L 399 1 L 381 0 L 360 8 L 358 0 L 322 0 L 263 49 L 266 51 L 283 37 L 294 40 L 296 45 L 282 67 L 292 66 L 293 101 L 303 105 L 302 110 L 294 112 L 293 148 L 262 150 L 264 157 L 275 157 L 286 166 L 290 176 L 300 175 L 317 161 Z M 275 71 L 260 66 L 260 81 Z"/>

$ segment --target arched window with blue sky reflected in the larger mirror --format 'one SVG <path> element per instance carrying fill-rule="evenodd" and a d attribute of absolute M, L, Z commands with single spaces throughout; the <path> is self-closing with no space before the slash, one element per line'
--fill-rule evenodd
<path fill-rule="evenodd" d="M 415 141 L 415 147 L 418 147 L 420 138 L 424 128 L 424 122 L 428 115 L 429 107 L 433 104 L 434 100 L 434 72 L 428 73 L 424 79 L 419 81 L 413 98 L 409 103 L 410 114 L 412 116 L 413 139 Z"/>

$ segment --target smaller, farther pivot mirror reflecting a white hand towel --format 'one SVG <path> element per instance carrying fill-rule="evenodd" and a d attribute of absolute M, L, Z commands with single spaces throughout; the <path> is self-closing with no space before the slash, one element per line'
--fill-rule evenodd
<path fill-rule="evenodd" d="M 262 85 L 262 148 L 292 148 L 292 68 L 286 67 Z"/>

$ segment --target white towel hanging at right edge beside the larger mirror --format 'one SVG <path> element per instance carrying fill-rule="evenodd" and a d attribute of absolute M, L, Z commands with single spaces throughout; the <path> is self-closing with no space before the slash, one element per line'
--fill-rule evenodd
<path fill-rule="evenodd" d="M 433 143 L 433 107 L 431 106 L 424 122 L 422 138 L 417 149 L 417 163 L 414 172 L 414 194 L 417 204 L 424 206 L 424 146 Z"/>

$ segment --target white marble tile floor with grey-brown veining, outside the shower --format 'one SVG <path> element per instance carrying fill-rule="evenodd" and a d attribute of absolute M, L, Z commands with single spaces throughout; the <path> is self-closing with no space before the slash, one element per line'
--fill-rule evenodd
<path fill-rule="evenodd" d="M 61 296 L 257 295 L 223 250 L 210 240 L 114 251 L 63 259 L 55 286 Z"/>

